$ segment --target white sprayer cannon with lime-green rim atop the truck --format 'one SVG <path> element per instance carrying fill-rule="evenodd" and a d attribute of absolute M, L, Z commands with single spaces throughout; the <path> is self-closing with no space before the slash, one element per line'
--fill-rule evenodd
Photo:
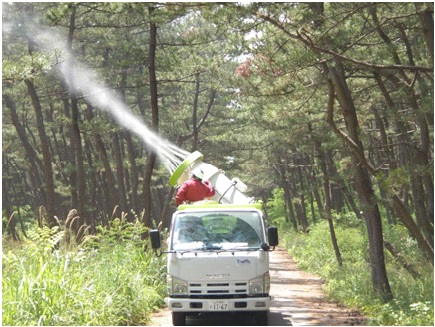
<path fill-rule="evenodd" d="M 200 169 L 204 172 L 204 180 L 209 180 L 216 194 L 211 200 L 223 204 L 248 204 L 253 203 L 254 198 L 248 197 L 244 192 L 247 186 L 238 178 L 229 179 L 225 173 L 211 164 L 203 162 L 202 153 L 191 153 L 173 172 L 169 179 L 171 186 L 181 185 L 190 178 L 193 170 Z"/>

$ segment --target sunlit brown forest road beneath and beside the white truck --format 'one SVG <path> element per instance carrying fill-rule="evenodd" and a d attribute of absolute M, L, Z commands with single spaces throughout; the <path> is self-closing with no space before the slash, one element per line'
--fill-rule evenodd
<path fill-rule="evenodd" d="M 270 277 L 272 306 L 269 326 L 362 326 L 364 317 L 358 312 L 328 302 L 319 277 L 297 269 L 296 263 L 283 249 L 271 252 Z M 152 326 L 172 326 L 168 309 L 156 312 Z M 250 315 L 206 316 L 187 319 L 191 326 L 253 326 Z"/>

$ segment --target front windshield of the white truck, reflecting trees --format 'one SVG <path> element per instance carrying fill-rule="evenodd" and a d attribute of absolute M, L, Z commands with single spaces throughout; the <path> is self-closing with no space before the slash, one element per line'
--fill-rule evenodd
<path fill-rule="evenodd" d="M 259 248 L 262 220 L 256 211 L 186 212 L 174 220 L 173 250 Z"/>

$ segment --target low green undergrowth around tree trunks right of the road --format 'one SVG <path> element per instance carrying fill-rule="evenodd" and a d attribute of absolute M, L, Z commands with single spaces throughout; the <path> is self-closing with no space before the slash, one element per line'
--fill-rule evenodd
<path fill-rule="evenodd" d="M 296 233 L 290 226 L 282 226 L 280 242 L 301 269 L 325 280 L 324 291 L 330 299 L 358 308 L 368 317 L 368 325 L 433 326 L 433 268 L 405 228 L 397 225 L 387 227 L 385 236 L 420 277 L 414 278 L 385 251 L 389 283 L 394 295 L 394 299 L 385 304 L 372 291 L 364 224 L 336 221 L 335 232 L 343 257 L 341 267 L 335 259 L 326 221 L 313 225 L 308 234 Z"/>

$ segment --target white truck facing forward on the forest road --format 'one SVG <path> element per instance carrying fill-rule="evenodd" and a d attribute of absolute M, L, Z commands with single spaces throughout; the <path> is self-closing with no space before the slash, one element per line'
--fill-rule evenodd
<path fill-rule="evenodd" d="M 216 185 L 216 178 L 210 180 Z M 278 245 L 278 231 L 266 228 L 261 204 L 235 189 L 240 181 L 227 184 L 216 189 L 218 201 L 181 205 L 172 216 L 167 250 L 159 255 L 167 254 L 166 304 L 174 326 L 210 312 L 249 312 L 257 325 L 267 325 L 269 251 Z M 225 196 L 226 203 L 219 203 Z M 231 203 L 235 197 L 238 203 Z M 150 238 L 157 253 L 159 230 L 151 230 Z"/>

